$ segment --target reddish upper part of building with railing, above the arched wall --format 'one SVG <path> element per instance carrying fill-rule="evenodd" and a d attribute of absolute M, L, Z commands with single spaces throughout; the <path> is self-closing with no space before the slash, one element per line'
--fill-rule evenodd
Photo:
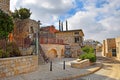
<path fill-rule="evenodd" d="M 57 39 L 55 33 L 59 32 L 55 26 L 47 26 L 40 28 L 40 44 L 63 44 L 62 39 Z"/>

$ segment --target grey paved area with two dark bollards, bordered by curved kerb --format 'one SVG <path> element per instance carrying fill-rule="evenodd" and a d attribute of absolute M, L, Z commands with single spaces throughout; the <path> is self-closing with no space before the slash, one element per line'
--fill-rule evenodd
<path fill-rule="evenodd" d="M 53 68 L 50 71 L 50 63 L 39 65 L 37 71 L 21 74 L 14 77 L 3 78 L 0 80 L 72 80 L 81 76 L 91 74 L 100 69 L 101 63 L 83 68 L 75 69 L 70 67 L 70 62 L 75 60 L 74 58 L 55 59 L 53 61 Z M 66 62 L 65 70 L 63 70 L 63 61 Z"/>

